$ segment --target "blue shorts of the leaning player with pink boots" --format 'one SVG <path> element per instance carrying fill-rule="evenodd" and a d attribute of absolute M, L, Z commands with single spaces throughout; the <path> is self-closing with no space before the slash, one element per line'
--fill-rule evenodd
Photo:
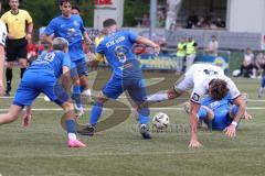
<path fill-rule="evenodd" d="M 68 95 L 57 84 L 57 79 L 50 73 L 26 70 L 14 95 L 13 105 L 31 106 L 33 100 L 43 92 L 59 106 L 68 100 Z"/>

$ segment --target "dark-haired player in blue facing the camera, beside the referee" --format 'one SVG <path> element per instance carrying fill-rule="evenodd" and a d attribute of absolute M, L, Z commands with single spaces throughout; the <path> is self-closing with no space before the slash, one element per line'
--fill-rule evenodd
<path fill-rule="evenodd" d="M 83 51 L 83 38 L 86 43 L 91 43 L 91 38 L 85 31 L 83 20 L 78 14 L 72 14 L 71 0 L 60 0 L 60 9 L 62 14 L 54 18 L 45 28 L 42 38 L 49 44 L 52 43 L 50 35 L 55 37 L 64 37 L 68 41 L 68 55 L 71 58 L 71 76 L 74 80 L 73 96 L 76 110 L 80 116 L 83 114 L 83 106 L 81 103 L 81 92 L 91 96 L 87 82 L 86 56 Z"/>

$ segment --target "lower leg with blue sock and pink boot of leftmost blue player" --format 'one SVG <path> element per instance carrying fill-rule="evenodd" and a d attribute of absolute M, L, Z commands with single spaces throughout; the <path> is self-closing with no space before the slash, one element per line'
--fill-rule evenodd
<path fill-rule="evenodd" d="M 66 125 L 66 131 L 67 131 L 67 146 L 68 147 L 85 147 L 86 145 L 82 143 L 77 138 L 76 138 L 76 123 L 75 123 L 75 113 L 74 113 L 74 106 L 66 101 L 62 105 L 62 108 L 65 110 L 65 125 Z"/>

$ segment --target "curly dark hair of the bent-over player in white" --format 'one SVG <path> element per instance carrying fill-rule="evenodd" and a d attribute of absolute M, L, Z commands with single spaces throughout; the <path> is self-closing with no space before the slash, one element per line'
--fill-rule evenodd
<path fill-rule="evenodd" d="M 209 84 L 209 96 L 214 100 L 223 99 L 229 92 L 227 82 L 223 79 L 212 79 Z"/>

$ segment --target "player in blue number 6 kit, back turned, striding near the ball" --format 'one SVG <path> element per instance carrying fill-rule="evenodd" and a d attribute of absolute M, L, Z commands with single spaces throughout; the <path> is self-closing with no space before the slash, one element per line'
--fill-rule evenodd
<path fill-rule="evenodd" d="M 155 48 L 159 53 L 159 45 L 148 38 L 139 36 L 130 31 L 118 31 L 116 21 L 113 19 L 105 20 L 103 23 L 107 35 L 96 48 L 96 59 L 94 65 L 97 65 L 105 56 L 107 63 L 113 67 L 113 76 L 102 89 L 99 96 L 92 108 L 88 127 L 78 131 L 80 134 L 93 135 L 95 127 L 102 114 L 104 102 L 108 99 L 117 99 L 125 90 L 130 98 L 139 107 L 147 98 L 146 87 L 142 81 L 140 64 L 132 53 L 135 43 L 146 44 Z M 148 129 L 149 109 L 147 107 L 137 108 L 140 133 L 144 139 L 150 139 L 151 135 Z"/>

